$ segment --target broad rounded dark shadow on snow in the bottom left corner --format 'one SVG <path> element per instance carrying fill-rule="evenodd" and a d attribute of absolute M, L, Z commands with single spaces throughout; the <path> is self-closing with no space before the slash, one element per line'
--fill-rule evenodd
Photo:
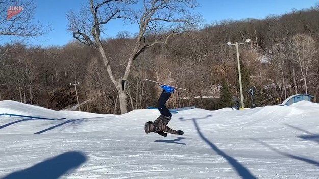
<path fill-rule="evenodd" d="M 60 176 L 71 173 L 87 160 L 87 157 L 78 151 L 69 151 L 56 157 L 47 159 L 30 168 L 16 171 L 2 179 L 56 179 Z"/>

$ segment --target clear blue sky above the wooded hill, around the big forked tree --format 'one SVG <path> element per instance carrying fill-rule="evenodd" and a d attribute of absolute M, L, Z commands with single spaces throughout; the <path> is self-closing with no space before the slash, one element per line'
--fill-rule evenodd
<path fill-rule="evenodd" d="M 142 0 L 140 0 L 142 1 Z M 73 40 L 72 34 L 67 31 L 68 21 L 66 13 L 69 10 L 78 11 L 87 0 L 36 0 L 37 9 L 34 20 L 43 24 L 51 24 L 52 31 L 48 32 L 38 40 L 28 39 L 28 44 L 51 46 L 65 45 Z M 305 9 L 314 6 L 318 0 L 198 0 L 200 7 L 196 11 L 200 12 L 205 23 L 245 18 L 264 19 L 271 14 L 281 15 L 291 12 L 291 9 Z M 137 32 L 136 25 L 122 25 L 120 21 L 114 21 L 107 26 L 107 35 L 115 37 L 119 31 Z M 11 37 L 14 39 L 15 37 Z M 2 44 L 8 42 L 8 36 L 0 38 Z"/>

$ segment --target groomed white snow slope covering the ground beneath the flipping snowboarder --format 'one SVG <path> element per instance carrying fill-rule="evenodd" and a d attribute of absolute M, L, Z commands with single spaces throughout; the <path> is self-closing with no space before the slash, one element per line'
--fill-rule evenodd
<path fill-rule="evenodd" d="M 158 110 L 124 115 L 0 101 L 0 178 L 319 178 L 319 104 L 173 114 L 184 135 L 145 134 Z"/>

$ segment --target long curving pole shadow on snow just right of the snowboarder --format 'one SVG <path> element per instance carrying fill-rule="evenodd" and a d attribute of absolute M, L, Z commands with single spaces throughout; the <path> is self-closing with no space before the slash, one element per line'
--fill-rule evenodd
<path fill-rule="evenodd" d="M 207 118 L 207 117 L 206 117 Z M 200 118 L 202 119 L 202 118 Z M 252 173 L 244 167 L 242 164 L 240 164 L 236 159 L 232 158 L 231 156 L 225 154 L 222 150 L 220 150 L 216 145 L 214 145 L 212 142 L 210 142 L 201 132 L 196 120 L 192 119 L 194 122 L 194 125 L 196 127 L 196 130 L 200 137 L 208 144 L 210 147 L 220 156 L 222 156 L 224 159 L 228 161 L 228 163 L 236 170 L 236 172 L 244 179 L 250 179 L 250 178 L 256 178 Z"/>

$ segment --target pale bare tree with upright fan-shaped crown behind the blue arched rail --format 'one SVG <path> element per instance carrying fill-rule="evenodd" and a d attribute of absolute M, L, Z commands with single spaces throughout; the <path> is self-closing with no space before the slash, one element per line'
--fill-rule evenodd
<path fill-rule="evenodd" d="M 301 74 L 304 79 L 305 93 L 308 94 L 307 76 L 309 65 L 317 58 L 314 39 L 305 34 L 297 34 L 292 37 L 290 48 L 292 49 L 295 61 L 298 62 Z"/>

